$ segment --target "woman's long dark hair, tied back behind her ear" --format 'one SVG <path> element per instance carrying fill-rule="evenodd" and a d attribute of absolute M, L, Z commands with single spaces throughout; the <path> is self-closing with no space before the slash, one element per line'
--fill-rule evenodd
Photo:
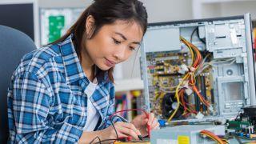
<path fill-rule="evenodd" d="M 84 42 L 83 36 L 86 34 L 86 18 L 90 15 L 94 17 L 94 32 L 90 38 L 93 38 L 102 26 L 112 24 L 116 20 L 138 22 L 138 25 L 143 31 L 143 35 L 146 33 L 147 13 L 142 2 L 138 0 L 94 0 L 94 2 L 83 11 L 77 22 L 67 30 L 66 34 L 51 44 L 62 42 L 70 34 L 74 34 L 74 47 L 78 58 L 81 60 L 81 50 Z M 111 82 L 114 82 L 113 69 L 114 68 L 111 67 L 110 70 L 107 70 Z M 106 72 L 99 69 L 97 71 L 97 74 L 104 74 Z"/>

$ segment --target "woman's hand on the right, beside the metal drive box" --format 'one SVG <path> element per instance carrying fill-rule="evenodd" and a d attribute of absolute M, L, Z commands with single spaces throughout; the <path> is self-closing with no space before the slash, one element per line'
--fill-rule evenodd
<path fill-rule="evenodd" d="M 140 114 L 136 116 L 131 123 L 140 130 L 142 136 L 148 135 L 148 125 L 150 126 L 150 130 L 155 130 L 159 127 L 158 119 L 154 117 L 153 113 L 149 114 L 149 118 L 146 118 L 146 114 L 144 113 Z"/>

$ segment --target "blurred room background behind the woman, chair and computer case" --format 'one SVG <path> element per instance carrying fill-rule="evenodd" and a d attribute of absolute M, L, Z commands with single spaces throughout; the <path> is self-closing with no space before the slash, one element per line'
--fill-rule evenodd
<path fill-rule="evenodd" d="M 28 34 L 38 47 L 60 38 L 90 5 L 91 0 L 0 0 L 0 25 Z M 256 21 L 256 0 L 142 0 L 148 21 L 170 22 L 251 14 Z M 252 33 L 254 34 L 254 29 Z M 255 35 L 255 34 L 254 34 Z M 140 52 L 114 70 L 117 110 L 136 107 L 143 90 Z M 131 117 L 132 114 L 124 114 Z"/>

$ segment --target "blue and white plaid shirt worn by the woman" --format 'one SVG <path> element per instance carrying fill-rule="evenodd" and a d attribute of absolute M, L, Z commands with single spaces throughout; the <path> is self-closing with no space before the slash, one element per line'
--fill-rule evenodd
<path fill-rule="evenodd" d="M 89 80 L 71 38 L 26 54 L 14 71 L 8 91 L 11 143 L 75 143 L 81 137 Z M 107 74 L 98 78 L 90 101 L 102 118 L 98 130 L 110 126 L 114 86 Z"/>

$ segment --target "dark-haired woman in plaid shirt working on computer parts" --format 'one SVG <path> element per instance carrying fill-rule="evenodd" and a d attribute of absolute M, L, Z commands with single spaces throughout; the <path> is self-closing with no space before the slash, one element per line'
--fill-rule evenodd
<path fill-rule="evenodd" d="M 130 123 L 114 113 L 113 68 L 138 50 L 147 14 L 138 0 L 95 0 L 58 41 L 26 54 L 8 94 L 10 142 L 88 143 L 158 127 L 154 114 Z"/>

